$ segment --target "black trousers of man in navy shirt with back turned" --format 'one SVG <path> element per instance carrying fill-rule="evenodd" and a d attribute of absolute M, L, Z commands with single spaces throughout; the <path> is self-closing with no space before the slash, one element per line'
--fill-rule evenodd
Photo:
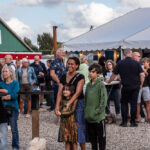
<path fill-rule="evenodd" d="M 121 115 L 122 122 L 127 123 L 127 114 L 128 114 L 128 103 L 131 105 L 131 123 L 135 123 L 136 114 L 137 114 L 137 99 L 139 94 L 139 88 L 128 89 L 123 87 L 121 90 Z"/>

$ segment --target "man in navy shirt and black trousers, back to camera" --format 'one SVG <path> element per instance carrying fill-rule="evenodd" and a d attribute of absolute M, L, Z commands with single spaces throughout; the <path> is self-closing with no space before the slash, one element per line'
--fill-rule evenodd
<path fill-rule="evenodd" d="M 139 90 L 144 82 L 143 69 L 139 62 L 133 60 L 132 51 L 126 49 L 124 51 L 125 59 L 118 62 L 113 70 L 113 74 L 110 77 L 108 83 L 114 80 L 114 78 L 119 74 L 121 77 L 122 89 L 121 89 L 121 113 L 122 113 L 122 123 L 120 126 L 127 126 L 127 113 L 128 113 L 128 103 L 131 104 L 131 127 L 136 127 L 135 122 L 137 113 L 137 99 Z"/>

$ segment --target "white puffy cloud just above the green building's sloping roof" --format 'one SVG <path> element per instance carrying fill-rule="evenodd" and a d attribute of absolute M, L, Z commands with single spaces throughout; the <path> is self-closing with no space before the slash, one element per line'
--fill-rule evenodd
<path fill-rule="evenodd" d="M 28 25 L 21 22 L 20 20 L 18 20 L 17 18 L 11 18 L 6 23 L 21 38 L 23 38 L 25 36 L 28 37 L 28 38 L 31 38 L 33 36 L 33 32 L 31 30 L 31 28 Z"/>

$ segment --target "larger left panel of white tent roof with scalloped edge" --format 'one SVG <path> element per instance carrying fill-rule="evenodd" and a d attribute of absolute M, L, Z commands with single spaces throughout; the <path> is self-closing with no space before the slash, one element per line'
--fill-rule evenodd
<path fill-rule="evenodd" d="M 63 44 L 66 51 L 106 50 L 150 27 L 150 8 L 138 8 Z"/>

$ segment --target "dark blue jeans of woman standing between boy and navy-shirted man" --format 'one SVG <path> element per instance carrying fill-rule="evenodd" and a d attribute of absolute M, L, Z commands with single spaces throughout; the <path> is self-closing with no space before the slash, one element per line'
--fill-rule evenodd
<path fill-rule="evenodd" d="M 108 95 L 106 113 L 110 114 L 110 97 L 113 96 L 114 103 L 115 103 L 115 112 L 116 114 L 120 114 L 120 89 L 112 89 L 112 91 L 110 91 L 110 88 L 107 88 L 107 93 L 109 95 Z"/>

